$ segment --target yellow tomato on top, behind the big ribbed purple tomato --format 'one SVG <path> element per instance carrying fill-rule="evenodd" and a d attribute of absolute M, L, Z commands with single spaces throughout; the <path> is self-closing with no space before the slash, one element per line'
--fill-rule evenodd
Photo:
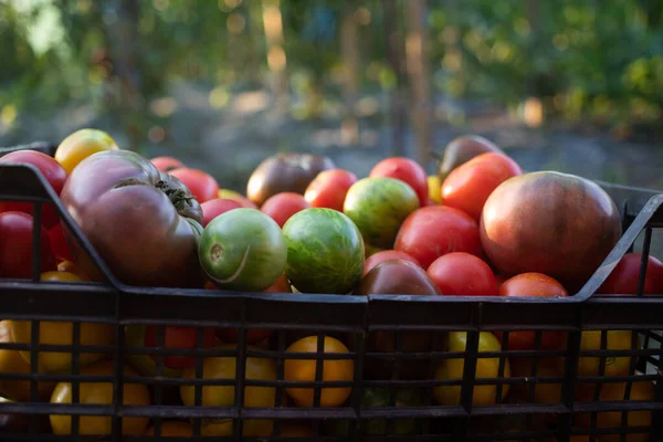
<path fill-rule="evenodd" d="M 85 158 L 104 150 L 118 150 L 117 144 L 108 134 L 97 129 L 81 129 L 62 140 L 54 158 L 67 175 Z"/>

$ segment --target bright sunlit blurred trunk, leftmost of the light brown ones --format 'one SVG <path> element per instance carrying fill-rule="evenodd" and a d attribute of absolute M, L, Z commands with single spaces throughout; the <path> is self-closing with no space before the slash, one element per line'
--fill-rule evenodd
<path fill-rule="evenodd" d="M 285 113 L 288 104 L 286 56 L 283 39 L 283 19 L 278 0 L 263 0 L 263 25 L 267 42 L 267 65 L 272 72 L 272 91 L 276 109 Z"/>

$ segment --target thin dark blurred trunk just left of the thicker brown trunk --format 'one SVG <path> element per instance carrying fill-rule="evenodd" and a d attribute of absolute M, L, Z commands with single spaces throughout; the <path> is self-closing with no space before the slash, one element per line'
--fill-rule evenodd
<path fill-rule="evenodd" d="M 381 0 L 385 23 L 385 48 L 387 50 L 387 62 L 396 75 L 396 85 L 389 97 L 389 125 L 392 129 L 391 149 L 389 156 L 402 156 L 404 152 L 404 127 L 406 115 L 403 112 L 404 94 L 404 51 L 401 44 L 401 35 L 396 21 L 396 0 Z"/>

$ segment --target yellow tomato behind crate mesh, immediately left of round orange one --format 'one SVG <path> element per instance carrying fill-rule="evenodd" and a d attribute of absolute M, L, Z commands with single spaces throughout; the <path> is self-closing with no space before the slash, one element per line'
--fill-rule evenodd
<path fill-rule="evenodd" d="M 234 346 L 221 346 L 232 349 Z M 236 360 L 234 357 L 209 357 L 202 362 L 203 379 L 235 379 Z M 182 378 L 196 379 L 196 369 L 185 370 Z M 276 380 L 276 362 L 267 358 L 248 357 L 244 379 Z M 181 386 L 180 394 L 186 407 L 193 407 L 196 400 L 196 388 L 193 386 Z M 202 387 L 202 407 L 233 407 L 234 385 L 231 386 L 204 386 Z M 244 387 L 244 407 L 274 407 L 276 389 L 274 387 Z M 266 438 L 272 434 L 273 421 L 271 420 L 246 420 L 243 424 L 244 436 Z M 210 421 L 203 424 L 202 435 L 221 436 L 232 433 L 232 421 Z"/>

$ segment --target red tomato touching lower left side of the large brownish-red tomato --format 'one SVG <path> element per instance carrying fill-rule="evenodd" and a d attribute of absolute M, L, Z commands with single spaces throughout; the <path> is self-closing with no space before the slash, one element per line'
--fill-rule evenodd
<path fill-rule="evenodd" d="M 451 252 L 482 257 L 476 221 L 444 206 L 428 206 L 410 213 L 398 231 L 393 249 L 413 256 L 423 269 Z"/>

